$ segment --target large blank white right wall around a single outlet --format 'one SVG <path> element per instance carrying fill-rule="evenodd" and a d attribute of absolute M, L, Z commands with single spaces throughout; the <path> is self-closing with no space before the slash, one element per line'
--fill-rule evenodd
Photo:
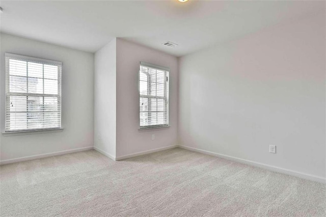
<path fill-rule="evenodd" d="M 325 177 L 323 13 L 179 64 L 181 145 Z"/>

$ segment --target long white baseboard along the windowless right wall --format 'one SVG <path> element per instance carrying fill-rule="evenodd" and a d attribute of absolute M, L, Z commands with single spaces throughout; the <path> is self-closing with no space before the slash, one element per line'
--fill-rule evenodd
<path fill-rule="evenodd" d="M 271 166 L 271 165 L 267 165 L 267 164 L 261 164 L 260 162 L 246 160 L 246 159 L 242 159 L 242 158 L 238 158 L 238 157 L 232 157 L 232 156 L 229 156 L 229 155 L 219 154 L 219 153 L 215 153 L 215 152 L 211 152 L 211 151 L 205 151 L 205 150 L 202 150 L 202 149 L 192 148 L 192 147 L 188 147 L 188 146 L 178 145 L 178 147 L 186 149 L 186 150 L 190 150 L 190 151 L 199 152 L 199 153 L 202 153 L 202 154 L 208 154 L 208 155 L 215 156 L 215 157 L 221 157 L 221 158 L 224 158 L 224 159 L 237 161 L 237 162 L 240 162 L 242 164 L 255 166 L 255 167 L 260 167 L 260 168 L 263 168 L 263 169 L 266 169 L 266 170 L 270 170 L 270 171 L 274 171 L 274 172 L 278 172 L 278 173 L 283 173 L 283 174 L 295 176 L 295 177 L 298 177 L 298 178 L 303 178 L 303 179 L 308 179 L 308 180 L 311 180 L 311 181 L 326 183 L 326 179 L 324 177 L 321 177 L 321 176 L 315 176 L 315 175 L 301 173 L 301 172 L 288 170 L 288 169 L 284 169 L 284 168 L 280 168 L 280 167 L 275 167 L 275 166 Z"/>

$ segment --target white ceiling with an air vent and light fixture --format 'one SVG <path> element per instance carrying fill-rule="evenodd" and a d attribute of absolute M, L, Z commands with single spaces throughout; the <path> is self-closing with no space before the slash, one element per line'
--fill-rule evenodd
<path fill-rule="evenodd" d="M 90 52 L 121 37 L 174 56 L 325 12 L 323 1 L 1 1 L 0 6 L 4 33 Z M 162 45 L 166 41 L 179 46 Z"/>

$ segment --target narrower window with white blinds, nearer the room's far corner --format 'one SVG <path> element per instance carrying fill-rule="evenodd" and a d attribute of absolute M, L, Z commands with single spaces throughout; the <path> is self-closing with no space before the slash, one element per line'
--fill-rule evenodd
<path fill-rule="evenodd" d="M 140 128 L 169 125 L 169 68 L 141 62 L 139 72 Z"/>

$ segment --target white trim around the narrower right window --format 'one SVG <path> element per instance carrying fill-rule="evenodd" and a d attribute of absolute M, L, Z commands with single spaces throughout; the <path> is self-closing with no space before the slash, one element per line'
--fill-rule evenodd
<path fill-rule="evenodd" d="M 167 124 L 160 124 L 160 125 L 152 125 L 152 126 L 141 126 L 141 120 L 140 120 L 140 99 L 141 96 L 141 92 L 140 92 L 140 71 L 141 71 L 141 66 L 145 66 L 145 67 L 150 67 L 150 68 L 155 68 L 155 69 L 159 69 L 159 70 L 164 70 L 169 72 L 169 81 L 168 81 L 168 86 L 167 89 L 168 91 L 168 95 L 166 96 L 167 98 Z M 165 94 L 166 94 L 165 90 Z M 151 97 L 151 96 L 146 96 L 149 98 L 165 98 L 165 97 L 160 97 L 160 96 L 156 96 L 156 97 Z M 154 65 L 154 64 L 150 64 L 150 63 L 146 63 L 146 62 L 140 62 L 139 64 L 139 70 L 138 70 L 138 129 L 139 130 L 145 130 L 145 129 L 159 129 L 159 128 L 165 128 L 165 127 L 170 127 L 170 115 L 169 115 L 169 111 L 170 111 L 170 68 L 168 67 L 164 67 L 164 66 L 158 66 L 158 65 Z"/>

